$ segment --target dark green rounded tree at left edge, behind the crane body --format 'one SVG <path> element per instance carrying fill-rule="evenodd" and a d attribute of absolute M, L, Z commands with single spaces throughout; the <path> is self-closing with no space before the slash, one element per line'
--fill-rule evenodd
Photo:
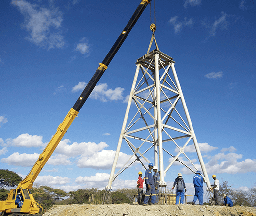
<path fill-rule="evenodd" d="M 0 169 L 0 189 L 5 187 L 15 187 L 21 182 L 22 178 L 15 172 L 8 169 Z"/>

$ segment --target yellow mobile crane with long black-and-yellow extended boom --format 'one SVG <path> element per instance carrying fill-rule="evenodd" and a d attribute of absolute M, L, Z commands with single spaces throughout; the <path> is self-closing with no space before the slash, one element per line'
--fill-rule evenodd
<path fill-rule="evenodd" d="M 132 17 L 128 21 L 128 24 L 123 29 L 119 37 L 117 38 L 116 42 L 102 61 L 102 63 L 99 63 L 99 67 L 97 68 L 95 74 L 91 78 L 91 80 L 88 82 L 87 86 L 75 102 L 74 106 L 70 109 L 70 111 L 67 113 L 66 117 L 64 118 L 63 122 L 59 125 L 57 128 L 56 133 L 53 135 L 52 139 L 46 146 L 46 148 L 43 150 L 43 152 L 40 154 L 39 158 L 33 165 L 31 171 L 29 174 L 19 183 L 17 186 L 17 189 L 12 189 L 10 193 L 8 194 L 8 198 L 6 201 L 0 201 L 0 215 L 1 212 L 5 212 L 7 214 L 15 213 L 29 213 L 29 214 L 35 214 L 35 213 L 41 213 L 42 207 L 38 205 L 32 194 L 30 193 L 29 189 L 32 188 L 33 183 L 39 173 L 41 172 L 42 168 L 46 164 L 46 162 L 51 157 L 52 153 L 58 146 L 59 142 L 62 140 L 64 134 L 67 132 L 69 126 L 74 121 L 75 117 L 78 115 L 79 110 L 84 105 L 87 98 L 90 96 L 91 92 L 95 88 L 97 82 L 107 69 L 109 63 L 115 56 L 115 54 L 118 52 L 119 48 L 127 38 L 129 32 L 131 31 L 132 27 L 135 25 L 137 20 L 139 19 L 140 15 L 145 10 L 146 6 L 151 2 L 151 0 L 141 0 L 139 6 L 133 13 Z M 24 204 L 22 208 L 17 208 L 17 205 L 15 205 L 15 198 L 17 193 L 21 192 L 22 196 L 26 199 L 24 200 Z M 26 198 L 27 197 L 27 198 Z M 31 200 L 31 201 L 29 201 Z M 26 202 L 25 202 L 26 201 Z"/>

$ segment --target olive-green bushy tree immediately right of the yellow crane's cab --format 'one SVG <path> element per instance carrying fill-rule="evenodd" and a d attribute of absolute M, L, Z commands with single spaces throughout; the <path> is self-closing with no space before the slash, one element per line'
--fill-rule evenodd
<path fill-rule="evenodd" d="M 49 186 L 35 185 L 31 189 L 34 199 L 44 208 L 46 212 L 57 200 L 63 200 L 67 193 L 61 189 L 53 189 Z"/>

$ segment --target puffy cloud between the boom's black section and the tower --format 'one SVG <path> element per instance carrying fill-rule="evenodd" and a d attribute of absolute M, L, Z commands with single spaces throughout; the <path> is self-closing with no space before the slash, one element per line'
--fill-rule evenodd
<path fill-rule="evenodd" d="M 90 98 L 99 99 L 102 102 L 107 102 L 109 100 L 117 101 L 123 100 L 123 91 L 125 89 L 121 87 L 117 87 L 114 90 L 111 88 L 108 89 L 108 85 L 106 83 L 100 83 L 95 86 Z"/>

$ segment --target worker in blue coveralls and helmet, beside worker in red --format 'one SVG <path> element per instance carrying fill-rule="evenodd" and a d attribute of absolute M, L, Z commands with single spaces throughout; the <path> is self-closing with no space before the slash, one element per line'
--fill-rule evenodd
<path fill-rule="evenodd" d="M 145 198 L 142 204 L 143 206 L 148 205 L 150 195 L 151 195 L 151 203 L 149 203 L 150 205 L 155 205 L 155 200 L 156 200 L 156 191 L 155 191 L 155 186 L 154 186 L 152 172 L 151 172 L 151 170 L 153 169 L 153 163 L 149 163 L 148 166 L 149 168 L 145 172 L 146 193 L 145 193 Z"/>

